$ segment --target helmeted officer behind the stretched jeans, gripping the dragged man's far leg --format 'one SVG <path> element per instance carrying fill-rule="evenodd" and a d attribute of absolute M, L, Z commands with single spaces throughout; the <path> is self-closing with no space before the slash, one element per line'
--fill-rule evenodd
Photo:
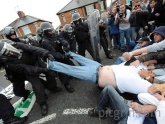
<path fill-rule="evenodd" d="M 59 37 L 53 32 L 54 29 L 50 23 L 42 22 L 40 27 L 43 32 L 41 46 L 44 49 L 47 49 L 53 55 L 56 61 L 69 65 L 74 65 L 73 62 L 69 59 L 69 56 L 66 56 L 64 54 L 64 51 L 67 51 L 70 48 L 69 43 L 63 37 Z M 64 84 L 65 89 L 68 92 L 73 93 L 74 89 L 69 84 L 70 77 L 68 75 L 59 73 L 59 78 Z"/>

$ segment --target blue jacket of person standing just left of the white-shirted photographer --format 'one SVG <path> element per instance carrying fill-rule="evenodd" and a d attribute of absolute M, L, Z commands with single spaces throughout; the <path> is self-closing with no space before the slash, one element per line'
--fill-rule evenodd
<path fill-rule="evenodd" d="M 108 18 L 108 25 L 110 26 L 110 35 L 119 33 L 119 25 L 114 24 L 115 18 Z"/>

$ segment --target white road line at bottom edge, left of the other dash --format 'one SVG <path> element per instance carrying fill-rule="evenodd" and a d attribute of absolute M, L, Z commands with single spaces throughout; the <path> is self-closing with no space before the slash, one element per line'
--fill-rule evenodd
<path fill-rule="evenodd" d="M 46 123 L 47 121 L 53 120 L 55 118 L 56 118 L 56 113 L 48 115 L 48 116 L 41 118 L 39 120 L 36 120 L 30 124 L 43 124 L 43 123 Z"/>

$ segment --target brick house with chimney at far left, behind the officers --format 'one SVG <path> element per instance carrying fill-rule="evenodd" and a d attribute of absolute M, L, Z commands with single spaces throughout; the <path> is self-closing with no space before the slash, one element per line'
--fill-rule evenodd
<path fill-rule="evenodd" d="M 36 34 L 36 28 L 41 25 L 42 22 L 49 22 L 43 19 L 39 19 L 33 16 L 25 15 L 23 11 L 17 12 L 19 18 L 13 21 L 8 26 L 15 29 L 18 37 L 24 37 L 28 34 Z M 52 22 L 50 22 L 52 23 Z M 0 31 L 0 39 L 3 39 L 3 30 Z"/>

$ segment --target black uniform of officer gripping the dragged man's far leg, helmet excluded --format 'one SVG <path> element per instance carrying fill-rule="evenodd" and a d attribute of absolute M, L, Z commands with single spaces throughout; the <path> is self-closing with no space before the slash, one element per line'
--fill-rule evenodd
<path fill-rule="evenodd" d="M 43 36 L 41 46 L 48 50 L 56 61 L 65 63 L 68 65 L 74 65 L 74 63 L 64 54 L 62 46 L 67 46 L 69 43 L 62 37 L 59 37 L 57 34 L 54 34 L 53 37 L 49 38 Z M 74 89 L 69 85 L 69 76 L 59 73 L 59 78 L 64 84 L 65 88 L 69 92 L 74 92 Z"/>

